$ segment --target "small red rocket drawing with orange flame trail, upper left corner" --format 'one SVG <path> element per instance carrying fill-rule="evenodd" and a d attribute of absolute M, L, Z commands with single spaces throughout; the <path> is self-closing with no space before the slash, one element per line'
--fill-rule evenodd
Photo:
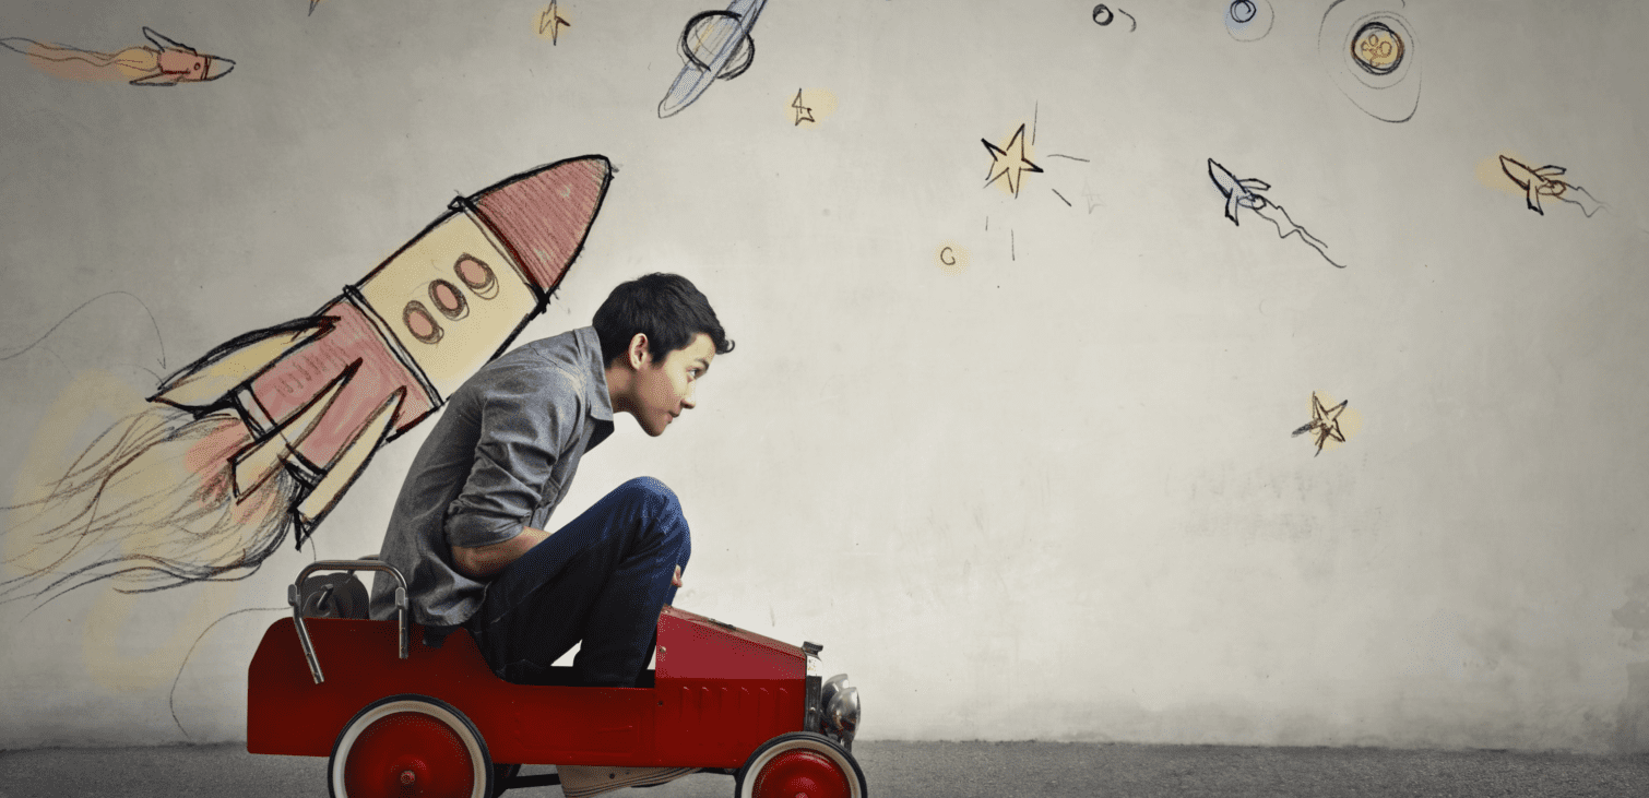
<path fill-rule="evenodd" d="M 97 53 L 68 45 L 46 45 L 21 36 L 0 38 L 0 45 L 28 56 L 35 68 L 71 81 L 125 81 L 132 86 L 176 86 L 216 81 L 234 69 L 234 61 L 209 56 L 143 28 L 150 46 L 119 53 Z"/>

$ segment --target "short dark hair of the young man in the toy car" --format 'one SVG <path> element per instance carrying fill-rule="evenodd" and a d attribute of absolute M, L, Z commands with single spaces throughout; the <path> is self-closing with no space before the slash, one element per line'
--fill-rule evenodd
<path fill-rule="evenodd" d="M 635 333 L 646 333 L 646 351 L 661 361 L 671 351 L 704 333 L 716 343 L 716 354 L 732 351 L 711 302 L 679 274 L 648 274 L 620 284 L 607 295 L 590 322 L 602 341 L 602 361 L 623 356 Z"/>

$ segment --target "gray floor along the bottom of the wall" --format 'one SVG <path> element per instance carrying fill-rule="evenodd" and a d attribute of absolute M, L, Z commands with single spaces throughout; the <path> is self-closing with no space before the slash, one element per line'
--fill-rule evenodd
<path fill-rule="evenodd" d="M 1649 796 L 1649 755 L 874 740 L 854 753 L 876 798 Z M 325 796 L 325 758 L 237 745 L 20 750 L 0 752 L 0 796 Z M 506 795 L 559 798 L 561 788 Z M 732 778 L 608 795 L 727 798 Z"/>

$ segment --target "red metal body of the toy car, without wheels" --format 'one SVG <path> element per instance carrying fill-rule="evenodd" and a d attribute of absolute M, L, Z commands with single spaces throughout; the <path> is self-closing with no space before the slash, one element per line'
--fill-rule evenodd
<path fill-rule="evenodd" d="M 399 660 L 394 622 L 305 623 L 327 679 L 310 678 L 294 620 L 272 623 L 247 678 L 252 753 L 331 755 L 356 712 L 407 692 L 463 712 L 495 762 L 737 768 L 762 742 L 805 730 L 800 648 L 674 607 L 658 618 L 651 688 L 511 684 L 465 630 L 430 648 L 412 627 L 411 656 Z"/>

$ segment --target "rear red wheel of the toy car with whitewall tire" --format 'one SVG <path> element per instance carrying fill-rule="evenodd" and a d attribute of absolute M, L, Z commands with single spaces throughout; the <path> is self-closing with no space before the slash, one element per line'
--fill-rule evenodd
<path fill-rule="evenodd" d="M 463 712 L 429 696 L 389 696 L 338 734 L 327 785 L 333 798 L 490 798 L 493 763 Z"/>

